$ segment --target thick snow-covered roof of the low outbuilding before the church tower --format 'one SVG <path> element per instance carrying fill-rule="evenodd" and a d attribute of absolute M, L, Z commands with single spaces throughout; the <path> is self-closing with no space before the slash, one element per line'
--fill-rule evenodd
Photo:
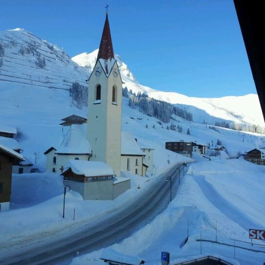
<path fill-rule="evenodd" d="M 109 165 L 100 161 L 69 160 L 62 174 L 69 168 L 71 168 L 75 174 L 84 175 L 85 177 L 115 175 L 113 169 Z"/>

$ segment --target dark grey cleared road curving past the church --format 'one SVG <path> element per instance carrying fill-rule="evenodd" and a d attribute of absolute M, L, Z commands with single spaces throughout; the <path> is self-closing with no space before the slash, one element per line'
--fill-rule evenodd
<path fill-rule="evenodd" d="M 54 264 L 54 262 L 72 258 L 77 251 L 87 253 L 101 248 L 103 244 L 104 246 L 113 244 L 117 238 L 120 240 L 127 237 L 128 232 L 140 226 L 150 216 L 157 215 L 164 208 L 170 188 L 165 182 L 165 177 L 172 174 L 175 182 L 178 178 L 178 171 L 176 166 L 171 167 L 159 176 L 152 189 L 142 194 L 136 202 L 108 218 L 103 218 L 98 223 L 87 225 L 75 236 L 66 235 L 66 238 L 28 249 L 25 253 L 2 257 L 0 264 Z"/>

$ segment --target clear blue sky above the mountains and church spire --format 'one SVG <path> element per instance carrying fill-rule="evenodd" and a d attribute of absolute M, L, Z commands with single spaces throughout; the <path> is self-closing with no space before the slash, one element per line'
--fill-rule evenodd
<path fill-rule="evenodd" d="M 141 84 L 194 97 L 256 93 L 232 0 L 12 0 L 0 30 L 23 27 L 72 57 L 99 47 L 109 4 L 114 53 Z"/>

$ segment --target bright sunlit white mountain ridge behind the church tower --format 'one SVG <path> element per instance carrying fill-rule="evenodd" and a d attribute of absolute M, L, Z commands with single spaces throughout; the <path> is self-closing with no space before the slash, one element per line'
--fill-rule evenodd
<path fill-rule="evenodd" d="M 90 74 L 96 63 L 98 50 L 92 53 L 81 53 L 72 58 L 73 61 Z M 176 92 L 163 92 L 148 86 L 141 85 L 128 66 L 121 60 L 119 55 L 115 55 L 121 72 L 121 77 L 125 82 L 124 87 L 137 94 L 138 91 L 149 95 L 149 97 L 166 101 L 172 104 L 183 106 L 193 114 L 193 119 L 197 122 L 214 123 L 218 119 L 233 121 L 235 123 L 250 123 L 265 126 L 259 99 L 257 95 L 249 94 L 245 96 L 229 96 L 222 98 L 194 98 Z M 248 107 L 251 106 L 251 107 Z M 216 119 L 217 118 L 217 119 Z"/>

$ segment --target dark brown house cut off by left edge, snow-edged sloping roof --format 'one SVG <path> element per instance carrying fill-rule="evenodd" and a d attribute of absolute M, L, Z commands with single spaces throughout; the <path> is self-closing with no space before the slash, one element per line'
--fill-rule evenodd
<path fill-rule="evenodd" d="M 21 154 L 0 144 L 0 212 L 9 210 L 13 163 L 23 160 Z"/>

